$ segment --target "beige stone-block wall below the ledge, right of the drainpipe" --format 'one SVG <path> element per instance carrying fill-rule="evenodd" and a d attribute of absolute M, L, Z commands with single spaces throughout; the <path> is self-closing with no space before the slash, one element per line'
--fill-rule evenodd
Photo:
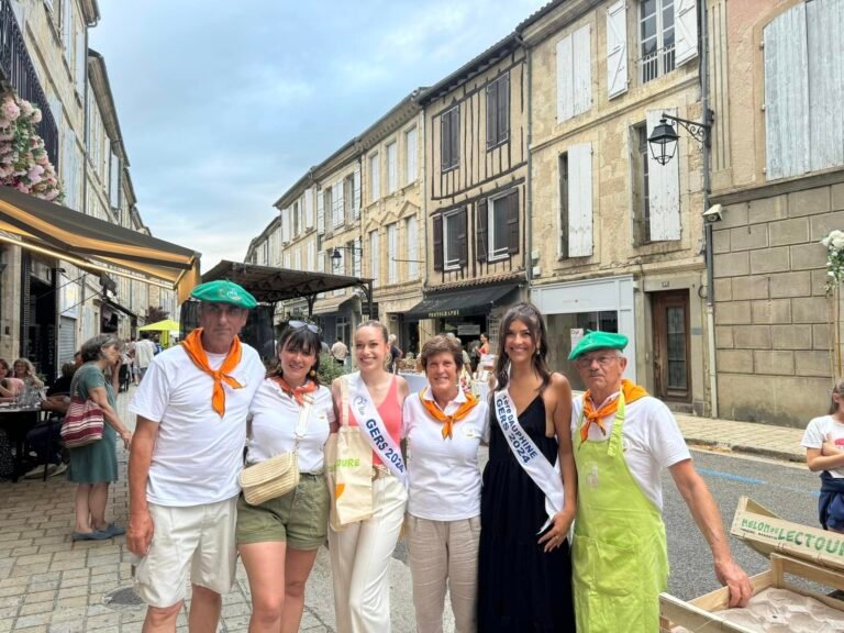
<path fill-rule="evenodd" d="M 804 426 L 830 401 L 820 240 L 844 226 L 844 182 L 724 207 L 714 225 L 720 417 Z"/>

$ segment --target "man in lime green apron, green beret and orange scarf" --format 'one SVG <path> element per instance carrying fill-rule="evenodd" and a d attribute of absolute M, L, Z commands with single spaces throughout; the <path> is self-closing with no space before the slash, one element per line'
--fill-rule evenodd
<path fill-rule="evenodd" d="M 589 332 L 569 355 L 588 391 L 571 408 L 577 465 L 573 548 L 578 633 L 659 630 L 659 592 L 668 586 L 659 471 L 668 468 L 702 532 L 730 604 L 753 589 L 733 560 L 721 515 L 668 408 L 622 378 L 628 337 Z"/>

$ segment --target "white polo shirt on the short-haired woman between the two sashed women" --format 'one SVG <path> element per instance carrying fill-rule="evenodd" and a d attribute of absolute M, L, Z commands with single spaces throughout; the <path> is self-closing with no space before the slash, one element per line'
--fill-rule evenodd
<path fill-rule="evenodd" d="M 420 392 L 421 393 L 421 392 Z M 420 393 L 404 400 L 401 436 L 410 451 L 408 512 L 431 521 L 458 521 L 480 514 L 478 447 L 489 442 L 489 406 L 482 400 L 454 424 L 451 440 L 443 438 L 443 423 L 433 420 L 420 402 Z M 424 398 L 433 400 L 431 389 Z M 444 413 L 452 414 L 466 401 L 460 389 Z"/>

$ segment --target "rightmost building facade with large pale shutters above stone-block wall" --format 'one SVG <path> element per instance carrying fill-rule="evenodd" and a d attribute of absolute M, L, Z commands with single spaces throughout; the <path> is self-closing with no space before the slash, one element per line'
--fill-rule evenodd
<path fill-rule="evenodd" d="M 719 411 L 804 426 L 834 378 L 820 240 L 844 229 L 844 49 L 825 25 L 844 5 L 710 0 L 709 14 Z"/>

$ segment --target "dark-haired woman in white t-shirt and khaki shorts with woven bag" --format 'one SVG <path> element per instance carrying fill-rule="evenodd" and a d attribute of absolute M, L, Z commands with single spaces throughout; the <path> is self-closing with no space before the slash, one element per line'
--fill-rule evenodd
<path fill-rule="evenodd" d="M 237 549 L 252 591 L 249 631 L 298 631 L 304 584 L 325 542 L 329 490 L 323 447 L 334 421 L 331 391 L 319 384 L 321 341 L 315 325 L 290 321 L 278 343 L 279 368 L 258 388 L 249 407 L 246 466 L 293 451 L 300 407 L 310 400 L 299 430 L 299 485 L 282 497 L 249 506 L 237 501 Z"/>

